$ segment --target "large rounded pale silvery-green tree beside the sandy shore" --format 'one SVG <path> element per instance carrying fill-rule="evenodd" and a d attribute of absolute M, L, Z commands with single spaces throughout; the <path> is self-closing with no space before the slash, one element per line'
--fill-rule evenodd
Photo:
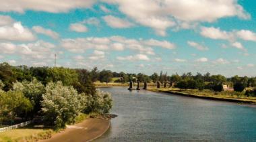
<path fill-rule="evenodd" d="M 65 128 L 73 123 L 83 109 L 84 96 L 79 95 L 72 86 L 63 86 L 61 82 L 50 82 L 42 96 L 44 121 L 54 125 L 55 129 Z"/>

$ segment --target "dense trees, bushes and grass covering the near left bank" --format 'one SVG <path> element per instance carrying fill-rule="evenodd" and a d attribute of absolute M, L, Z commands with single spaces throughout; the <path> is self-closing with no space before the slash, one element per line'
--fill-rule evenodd
<path fill-rule="evenodd" d="M 46 139 L 51 129 L 59 131 L 91 114 L 108 114 L 113 100 L 96 90 L 92 78 L 93 70 L 0 64 L 0 127 L 34 120 L 24 129 L 1 133 L 0 141 Z M 43 126 L 41 131 L 36 125 Z"/>

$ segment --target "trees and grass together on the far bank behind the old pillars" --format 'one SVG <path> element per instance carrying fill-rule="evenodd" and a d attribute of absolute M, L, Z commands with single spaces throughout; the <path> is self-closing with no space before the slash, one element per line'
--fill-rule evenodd
<path fill-rule="evenodd" d="M 102 78 L 102 72 L 108 74 Z M 97 75 L 98 74 L 98 75 Z M 220 74 L 210 73 L 195 75 L 191 72 L 182 75 L 167 75 L 167 72 L 154 73 L 151 76 L 146 74 L 125 74 L 125 72 L 110 72 L 106 70 L 94 70 L 94 80 L 96 86 L 128 86 L 127 82 L 134 83 L 148 82 L 148 90 L 159 92 L 170 92 L 185 96 L 195 96 L 201 98 L 217 98 L 218 100 L 230 100 L 234 102 L 256 103 L 256 77 L 232 76 L 226 78 Z M 98 81 L 97 81 L 98 80 Z M 105 83 L 103 83 L 105 82 Z M 157 82 L 160 88 L 156 87 Z M 141 84 L 142 85 L 142 84 Z M 224 88 L 223 86 L 228 86 Z"/>

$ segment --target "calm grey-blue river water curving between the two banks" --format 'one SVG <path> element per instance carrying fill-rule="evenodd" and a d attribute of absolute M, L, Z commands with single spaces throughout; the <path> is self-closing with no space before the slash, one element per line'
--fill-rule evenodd
<path fill-rule="evenodd" d="M 110 129 L 96 141 L 256 141 L 256 107 L 127 88 L 113 96 Z"/>

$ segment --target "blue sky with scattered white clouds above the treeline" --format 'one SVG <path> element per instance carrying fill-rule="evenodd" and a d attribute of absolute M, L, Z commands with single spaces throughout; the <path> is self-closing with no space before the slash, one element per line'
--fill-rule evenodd
<path fill-rule="evenodd" d="M 255 0 L 0 0 L 0 62 L 256 76 Z"/>

